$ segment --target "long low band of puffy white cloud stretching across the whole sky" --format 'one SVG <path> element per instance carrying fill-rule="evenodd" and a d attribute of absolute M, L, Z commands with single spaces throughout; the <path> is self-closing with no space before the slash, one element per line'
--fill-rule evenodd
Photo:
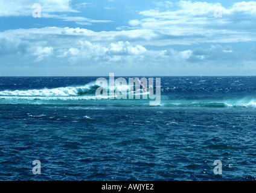
<path fill-rule="evenodd" d="M 149 36 L 146 36 L 147 33 Z M 144 37 L 142 37 L 143 35 Z M 5 37 L 5 40 L 1 41 L 1 48 L 5 50 L 5 54 L 16 54 L 17 52 L 31 54 L 36 56 L 34 62 L 51 59 L 66 65 L 84 63 L 86 65 L 111 66 L 120 65 L 120 63 L 135 66 L 143 63 L 149 68 L 149 66 L 156 65 L 186 66 L 191 63 L 206 65 L 216 61 L 229 65 L 230 61 L 235 61 L 238 64 L 245 60 L 255 60 L 255 48 L 236 52 L 229 45 L 212 44 L 209 48 L 200 48 L 199 46 L 181 51 L 177 51 L 171 46 L 164 48 L 160 46 L 158 49 L 153 46 L 151 49 L 147 49 L 146 38 L 151 39 L 150 42 L 153 44 L 161 40 L 166 41 L 166 39 L 182 42 L 184 41 L 182 39 L 186 37 L 154 35 L 155 37 L 147 30 L 94 32 L 83 28 L 57 27 L 8 30 L 0 33 L 0 36 Z M 129 39 L 129 41 L 120 39 Z M 7 48 L 7 45 L 11 45 L 14 49 Z"/>

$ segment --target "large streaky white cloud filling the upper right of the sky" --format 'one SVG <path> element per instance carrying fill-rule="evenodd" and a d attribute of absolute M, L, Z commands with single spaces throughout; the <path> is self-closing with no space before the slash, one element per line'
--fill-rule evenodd
<path fill-rule="evenodd" d="M 231 7 L 191 1 L 161 2 L 160 7 L 164 5 L 172 8 L 140 11 L 142 19 L 131 19 L 128 22 L 130 29 L 151 31 L 150 43 L 159 46 L 256 40 L 255 1 L 237 2 Z M 222 17 L 216 17 L 219 13 L 216 11 L 221 11 Z M 154 41 L 156 39 L 158 41 Z"/>

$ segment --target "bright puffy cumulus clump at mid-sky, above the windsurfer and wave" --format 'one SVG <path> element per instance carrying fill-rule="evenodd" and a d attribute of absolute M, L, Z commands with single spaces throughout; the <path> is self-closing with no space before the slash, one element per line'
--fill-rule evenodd
<path fill-rule="evenodd" d="M 110 63 L 124 62 L 136 63 L 138 58 L 143 57 L 147 49 L 141 45 L 131 45 L 129 42 L 112 42 L 108 46 L 100 43 L 91 43 L 87 40 L 77 42 L 77 46 L 68 49 L 62 49 L 57 57 L 68 58 L 71 63 Z"/>

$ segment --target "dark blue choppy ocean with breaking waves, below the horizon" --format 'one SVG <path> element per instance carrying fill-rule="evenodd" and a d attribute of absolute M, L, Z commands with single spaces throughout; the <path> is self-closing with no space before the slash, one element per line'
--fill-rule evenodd
<path fill-rule="evenodd" d="M 159 106 L 97 78 L 0 77 L 0 180 L 256 179 L 256 77 L 161 77 Z"/>

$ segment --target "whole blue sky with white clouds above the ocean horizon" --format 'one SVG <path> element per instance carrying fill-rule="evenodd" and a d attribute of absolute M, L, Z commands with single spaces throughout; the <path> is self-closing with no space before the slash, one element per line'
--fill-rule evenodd
<path fill-rule="evenodd" d="M 0 0 L 0 76 L 256 75 L 256 1 Z"/>

